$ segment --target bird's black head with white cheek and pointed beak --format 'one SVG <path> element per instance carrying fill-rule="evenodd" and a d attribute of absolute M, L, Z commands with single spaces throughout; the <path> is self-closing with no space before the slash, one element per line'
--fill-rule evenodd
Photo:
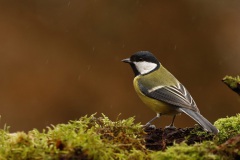
<path fill-rule="evenodd" d="M 131 65 L 136 76 L 149 74 L 160 67 L 157 58 L 149 51 L 136 52 L 130 58 L 122 61 Z"/>

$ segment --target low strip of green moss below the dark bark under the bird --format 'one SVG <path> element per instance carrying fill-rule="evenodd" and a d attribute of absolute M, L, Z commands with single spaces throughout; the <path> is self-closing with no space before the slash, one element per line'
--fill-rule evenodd
<path fill-rule="evenodd" d="M 169 147 L 165 152 L 155 152 L 152 154 L 153 160 L 216 160 L 221 159 L 213 154 L 216 145 L 213 142 L 206 141 L 201 144 L 188 146 L 185 143 L 176 144 Z M 222 157 L 223 158 L 223 157 Z"/>

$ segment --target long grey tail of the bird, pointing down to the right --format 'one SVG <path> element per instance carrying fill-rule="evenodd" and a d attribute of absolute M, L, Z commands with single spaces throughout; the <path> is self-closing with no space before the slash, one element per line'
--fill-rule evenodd
<path fill-rule="evenodd" d="M 204 130 L 217 134 L 219 130 L 212 125 L 206 118 L 204 118 L 199 112 L 194 112 L 187 108 L 180 108 L 182 112 L 194 119 L 198 124 L 200 124 Z"/>

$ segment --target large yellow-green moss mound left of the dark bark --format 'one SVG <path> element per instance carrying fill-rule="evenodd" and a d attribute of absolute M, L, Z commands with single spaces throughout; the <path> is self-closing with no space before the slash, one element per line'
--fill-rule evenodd
<path fill-rule="evenodd" d="M 140 124 L 85 116 L 39 132 L 0 131 L 1 159 L 146 159 Z"/>

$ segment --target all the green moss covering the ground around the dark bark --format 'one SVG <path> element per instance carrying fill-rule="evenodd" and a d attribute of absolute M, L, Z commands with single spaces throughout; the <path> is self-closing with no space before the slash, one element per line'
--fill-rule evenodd
<path fill-rule="evenodd" d="M 215 125 L 220 132 L 214 142 L 174 144 L 164 152 L 145 148 L 146 133 L 140 124 L 134 124 L 133 117 L 111 121 L 105 115 L 84 116 L 41 132 L 10 133 L 5 127 L 0 130 L 0 159 L 224 159 L 226 153 L 238 152 L 226 152 L 229 147 L 217 144 L 240 133 L 239 123 L 240 115 L 219 119 Z M 197 136 L 203 134 L 206 132 Z"/>

